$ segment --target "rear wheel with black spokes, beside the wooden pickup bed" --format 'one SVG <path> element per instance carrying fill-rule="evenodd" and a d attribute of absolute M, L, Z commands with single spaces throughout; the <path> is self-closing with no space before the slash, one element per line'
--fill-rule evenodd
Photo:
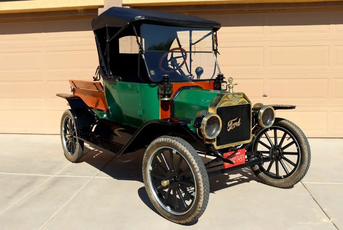
<path fill-rule="evenodd" d="M 70 110 L 64 111 L 61 118 L 61 142 L 64 156 L 71 162 L 78 162 L 83 154 L 83 141 L 78 139 L 75 120 Z"/>

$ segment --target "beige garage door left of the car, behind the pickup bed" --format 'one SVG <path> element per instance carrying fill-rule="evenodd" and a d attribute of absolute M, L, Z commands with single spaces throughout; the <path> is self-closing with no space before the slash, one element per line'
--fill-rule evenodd
<path fill-rule="evenodd" d="M 59 134 L 69 79 L 98 64 L 91 19 L 0 23 L 0 133 Z"/>

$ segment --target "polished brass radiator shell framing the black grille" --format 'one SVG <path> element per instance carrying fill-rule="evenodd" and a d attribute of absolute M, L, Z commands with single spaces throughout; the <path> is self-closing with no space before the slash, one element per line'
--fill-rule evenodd
<path fill-rule="evenodd" d="M 218 94 L 219 95 L 219 94 Z M 237 145 L 243 145 L 245 143 L 251 142 L 253 138 L 252 134 L 252 104 L 248 97 L 245 95 L 245 93 L 238 92 L 238 93 L 226 93 L 226 94 L 221 94 L 219 96 L 216 96 L 212 103 L 209 106 L 209 112 L 217 114 L 217 108 L 219 107 L 227 107 L 227 106 L 233 106 L 233 105 L 244 105 L 244 104 L 250 104 L 250 139 L 244 140 L 244 141 L 239 141 L 239 142 L 234 142 L 234 143 L 228 143 L 226 145 L 221 145 L 217 146 L 217 139 L 212 143 L 215 149 L 222 149 L 222 148 L 227 148 L 227 147 L 232 147 L 232 146 L 237 146 Z"/>

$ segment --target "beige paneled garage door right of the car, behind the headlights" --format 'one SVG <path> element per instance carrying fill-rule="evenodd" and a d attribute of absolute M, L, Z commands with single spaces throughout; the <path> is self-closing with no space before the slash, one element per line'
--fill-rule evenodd
<path fill-rule="evenodd" d="M 343 12 L 199 16 L 222 23 L 218 61 L 235 91 L 297 105 L 277 116 L 310 137 L 343 137 Z"/>

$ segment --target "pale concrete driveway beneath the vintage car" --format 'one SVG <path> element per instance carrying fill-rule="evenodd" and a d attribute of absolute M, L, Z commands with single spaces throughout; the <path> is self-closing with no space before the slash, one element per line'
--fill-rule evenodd
<path fill-rule="evenodd" d="M 63 156 L 58 135 L 0 135 L 0 229 L 342 229 L 343 139 L 310 139 L 293 188 L 264 185 L 250 168 L 210 178 L 209 205 L 191 226 L 159 216 L 142 181 L 144 151 L 85 148 Z"/>

